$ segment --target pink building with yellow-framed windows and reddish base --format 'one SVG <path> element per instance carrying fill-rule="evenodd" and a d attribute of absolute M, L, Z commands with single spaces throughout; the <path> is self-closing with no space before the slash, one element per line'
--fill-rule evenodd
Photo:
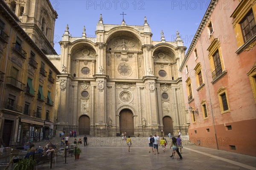
<path fill-rule="evenodd" d="M 198 146 L 256 156 L 255 18 L 254 0 L 212 0 L 195 33 L 180 71 Z"/>

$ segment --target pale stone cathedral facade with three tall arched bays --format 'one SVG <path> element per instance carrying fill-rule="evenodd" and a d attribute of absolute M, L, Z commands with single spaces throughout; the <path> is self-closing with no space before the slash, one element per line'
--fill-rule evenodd
<path fill-rule="evenodd" d="M 143 20 L 142 20 L 143 21 Z M 143 23 L 143 22 L 142 22 Z M 152 41 L 150 26 L 104 24 L 96 37 L 72 37 L 67 25 L 61 55 L 48 58 L 59 69 L 56 83 L 56 134 L 131 136 L 187 134 L 180 64 L 186 47 L 180 39 Z"/>

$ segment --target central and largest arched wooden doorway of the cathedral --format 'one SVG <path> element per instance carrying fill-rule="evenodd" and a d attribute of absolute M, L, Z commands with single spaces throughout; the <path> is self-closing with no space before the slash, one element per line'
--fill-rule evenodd
<path fill-rule="evenodd" d="M 126 132 L 128 135 L 134 135 L 134 121 L 133 121 L 133 114 L 131 110 L 124 109 L 120 112 L 119 117 L 120 122 L 120 134 L 122 132 Z"/>

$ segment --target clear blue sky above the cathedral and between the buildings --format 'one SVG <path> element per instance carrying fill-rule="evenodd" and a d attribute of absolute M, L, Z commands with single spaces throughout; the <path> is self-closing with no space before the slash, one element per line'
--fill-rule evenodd
<path fill-rule="evenodd" d="M 59 41 L 69 25 L 72 37 L 81 37 L 83 26 L 87 37 L 95 37 L 96 24 L 102 14 L 104 24 L 122 23 L 143 26 L 147 17 L 152 40 L 160 41 L 161 30 L 166 41 L 174 41 L 176 30 L 189 48 L 210 0 L 50 0 L 58 13 L 55 22 L 55 50 L 60 54 Z"/>

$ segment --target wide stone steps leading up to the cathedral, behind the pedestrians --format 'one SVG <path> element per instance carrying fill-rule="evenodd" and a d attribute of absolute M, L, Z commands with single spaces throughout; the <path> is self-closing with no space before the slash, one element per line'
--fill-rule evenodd
<path fill-rule="evenodd" d="M 76 140 L 78 141 L 79 138 L 83 141 L 84 136 L 77 136 Z M 165 137 L 168 144 L 171 143 L 169 137 Z M 194 146 L 194 143 L 189 141 L 188 136 L 182 136 L 182 145 L 183 146 Z M 75 138 L 69 138 L 69 146 L 74 145 Z M 61 144 L 61 137 L 52 137 L 50 139 L 52 144 Z M 148 146 L 148 137 L 131 137 L 132 145 L 133 146 Z M 47 144 L 46 140 L 41 142 L 35 142 L 35 146 L 41 145 L 41 147 Z M 83 143 L 82 143 L 83 144 Z M 87 136 L 87 144 L 89 146 L 126 146 L 126 140 L 122 139 L 122 137 L 91 137 Z M 66 145 L 64 143 L 64 145 Z"/>

